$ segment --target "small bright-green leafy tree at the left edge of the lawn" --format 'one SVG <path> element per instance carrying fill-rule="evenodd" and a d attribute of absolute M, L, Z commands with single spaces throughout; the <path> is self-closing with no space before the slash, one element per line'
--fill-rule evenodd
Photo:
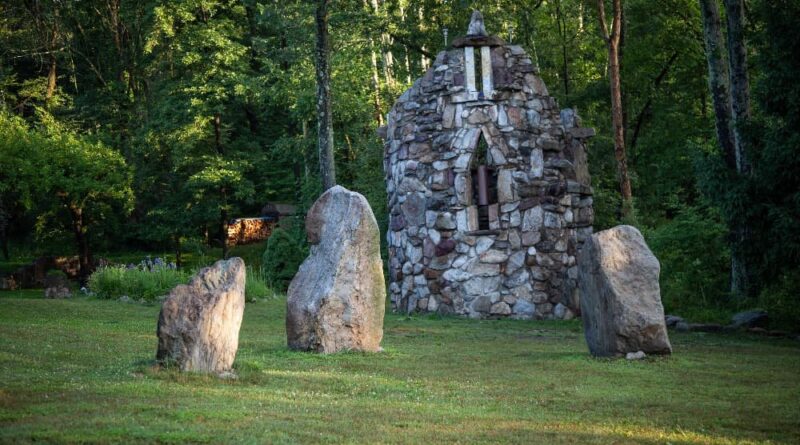
<path fill-rule="evenodd" d="M 133 207 L 131 172 L 122 155 L 66 128 L 41 112 L 39 128 L 0 112 L 0 202 L 19 215 L 36 215 L 42 240 L 69 236 L 79 255 L 90 237 L 115 233 Z M 7 164 L 6 164 L 7 162 Z"/>

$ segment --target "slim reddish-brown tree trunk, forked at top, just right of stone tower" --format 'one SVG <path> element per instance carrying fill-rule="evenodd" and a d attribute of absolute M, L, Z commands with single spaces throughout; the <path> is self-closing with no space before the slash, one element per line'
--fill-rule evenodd
<path fill-rule="evenodd" d="M 633 193 L 628 174 L 628 159 L 625 152 L 625 121 L 622 109 L 622 82 L 620 80 L 620 36 L 622 35 L 622 0 L 613 0 L 613 22 L 611 32 L 606 26 L 605 4 L 597 0 L 598 18 L 603 40 L 608 47 L 608 74 L 611 82 L 611 122 L 614 127 L 614 157 L 617 160 L 619 188 L 622 195 L 622 218 L 631 215 Z"/>

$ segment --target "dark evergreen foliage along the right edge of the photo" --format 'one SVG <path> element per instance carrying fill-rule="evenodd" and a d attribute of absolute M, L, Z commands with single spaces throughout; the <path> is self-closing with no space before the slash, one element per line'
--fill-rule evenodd
<path fill-rule="evenodd" d="M 800 323 L 790 308 L 800 304 L 791 280 L 800 271 L 800 88 L 795 80 L 800 36 L 792 32 L 797 2 L 757 2 L 755 18 L 763 25 L 753 39 L 759 66 L 754 83 L 754 110 L 744 129 L 752 169 L 738 174 L 725 167 L 717 150 L 698 162 L 704 194 L 720 208 L 731 231 L 747 227 L 744 242 L 732 242 L 750 266 L 750 303 Z"/>

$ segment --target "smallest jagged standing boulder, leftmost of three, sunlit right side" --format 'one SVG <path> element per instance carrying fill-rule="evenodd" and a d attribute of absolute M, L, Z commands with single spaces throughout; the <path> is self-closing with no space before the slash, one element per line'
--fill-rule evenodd
<path fill-rule="evenodd" d="M 172 289 L 158 316 L 156 359 L 181 371 L 230 371 L 239 347 L 244 287 L 244 261 L 231 258 Z"/>

